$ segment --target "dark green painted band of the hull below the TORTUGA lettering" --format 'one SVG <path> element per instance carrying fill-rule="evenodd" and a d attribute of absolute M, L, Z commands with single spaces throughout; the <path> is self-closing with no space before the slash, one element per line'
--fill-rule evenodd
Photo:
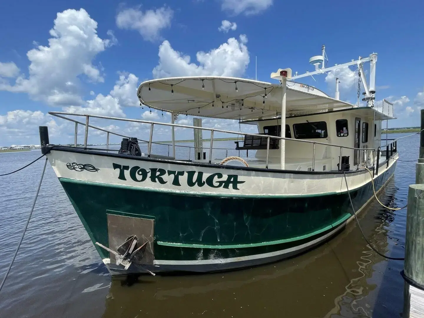
<path fill-rule="evenodd" d="M 378 190 L 394 165 L 376 180 Z M 60 179 L 93 243 L 109 246 L 107 213 L 154 218 L 154 257 L 200 260 L 295 247 L 335 229 L 351 215 L 347 193 L 307 198 L 223 198 L 151 192 L 137 187 Z M 371 183 L 351 192 L 355 209 Z M 107 212 L 106 212 L 107 211 Z M 109 253 L 96 245 L 102 258 Z"/>

